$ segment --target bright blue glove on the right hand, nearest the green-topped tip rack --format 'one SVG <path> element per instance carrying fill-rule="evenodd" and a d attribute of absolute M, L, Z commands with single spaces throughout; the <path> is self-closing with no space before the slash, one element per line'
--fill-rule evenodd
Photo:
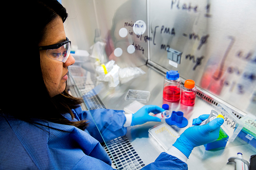
<path fill-rule="evenodd" d="M 201 115 L 201 117 L 199 117 L 197 121 L 195 120 L 195 122 L 200 124 L 202 121 L 207 119 L 208 116 Z M 173 146 L 189 158 L 191 151 L 196 146 L 205 145 L 206 143 L 211 143 L 218 139 L 220 126 L 223 123 L 224 119 L 216 118 L 206 125 L 189 127 L 181 134 Z"/>

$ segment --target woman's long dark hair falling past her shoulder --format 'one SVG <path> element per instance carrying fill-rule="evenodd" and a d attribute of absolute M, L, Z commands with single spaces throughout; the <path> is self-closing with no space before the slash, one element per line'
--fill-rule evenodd
<path fill-rule="evenodd" d="M 32 120 L 36 118 L 85 129 L 86 120 L 69 121 L 62 115 L 69 113 L 74 118 L 72 109 L 77 108 L 82 99 L 72 97 L 66 90 L 51 98 L 40 65 L 38 43 L 43 39 L 45 26 L 58 16 L 64 22 L 68 16 L 66 9 L 57 0 L 13 3 L 11 13 L 2 24 L 6 48 L 0 66 L 1 112 L 35 124 Z"/>

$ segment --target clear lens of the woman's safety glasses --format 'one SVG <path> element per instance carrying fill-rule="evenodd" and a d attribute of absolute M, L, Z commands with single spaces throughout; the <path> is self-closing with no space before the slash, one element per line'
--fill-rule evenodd
<path fill-rule="evenodd" d="M 70 47 L 71 47 L 71 44 L 69 42 L 64 44 L 60 48 L 48 49 L 46 54 L 51 59 L 58 60 L 61 62 L 66 62 L 70 54 Z"/>

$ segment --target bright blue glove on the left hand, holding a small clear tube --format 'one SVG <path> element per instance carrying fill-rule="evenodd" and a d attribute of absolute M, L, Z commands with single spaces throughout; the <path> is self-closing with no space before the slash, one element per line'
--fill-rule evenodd
<path fill-rule="evenodd" d="M 165 111 L 163 108 L 160 108 L 156 105 L 146 105 L 140 108 L 136 113 L 133 114 L 131 119 L 131 126 L 144 124 L 146 122 L 161 122 L 161 119 L 150 116 L 149 113 L 152 112 L 154 114 Z"/>

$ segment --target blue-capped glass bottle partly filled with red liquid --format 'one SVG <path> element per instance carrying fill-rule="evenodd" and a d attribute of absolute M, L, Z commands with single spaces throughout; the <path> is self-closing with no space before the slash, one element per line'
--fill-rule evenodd
<path fill-rule="evenodd" d="M 163 85 L 163 99 L 178 102 L 181 96 L 181 79 L 178 71 L 167 71 Z"/>

